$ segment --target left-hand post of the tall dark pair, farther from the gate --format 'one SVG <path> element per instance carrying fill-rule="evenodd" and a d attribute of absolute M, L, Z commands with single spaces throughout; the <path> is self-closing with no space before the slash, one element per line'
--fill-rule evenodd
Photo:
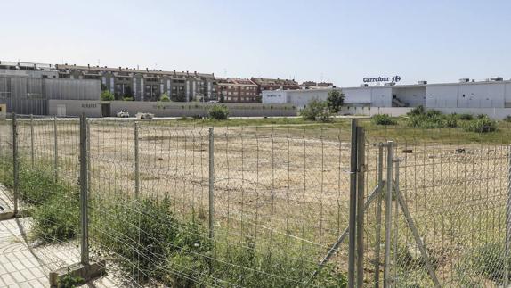
<path fill-rule="evenodd" d="M 355 284 L 356 210 L 357 210 L 357 120 L 352 119 L 352 151 L 350 159 L 350 218 L 348 249 L 348 287 Z"/>

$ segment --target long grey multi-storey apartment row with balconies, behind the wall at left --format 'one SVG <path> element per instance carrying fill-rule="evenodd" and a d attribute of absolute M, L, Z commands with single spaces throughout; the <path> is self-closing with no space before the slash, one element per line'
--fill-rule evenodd
<path fill-rule="evenodd" d="M 101 80 L 101 89 L 110 90 L 116 100 L 133 97 L 136 101 L 158 101 L 163 94 L 180 102 L 216 99 L 214 74 L 91 65 L 55 66 L 59 78 Z"/>

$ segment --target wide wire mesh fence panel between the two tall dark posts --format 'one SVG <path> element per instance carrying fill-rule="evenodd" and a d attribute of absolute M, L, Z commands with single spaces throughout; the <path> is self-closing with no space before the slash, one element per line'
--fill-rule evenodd
<path fill-rule="evenodd" d="M 337 136 L 95 120 L 89 133 L 93 210 L 110 219 L 92 241 L 136 281 L 306 284 L 347 226 L 349 144 Z"/>

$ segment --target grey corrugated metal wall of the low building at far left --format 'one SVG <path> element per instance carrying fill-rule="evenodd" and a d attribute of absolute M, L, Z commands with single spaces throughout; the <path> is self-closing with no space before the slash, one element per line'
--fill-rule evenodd
<path fill-rule="evenodd" d="M 8 112 L 48 114 L 48 100 L 99 100 L 99 80 L 0 76 L 0 103 Z"/>

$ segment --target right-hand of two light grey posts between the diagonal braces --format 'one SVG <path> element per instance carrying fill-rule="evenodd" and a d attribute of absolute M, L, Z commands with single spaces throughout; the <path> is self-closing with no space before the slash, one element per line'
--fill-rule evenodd
<path fill-rule="evenodd" d="M 385 267 L 384 287 L 390 287 L 390 249 L 392 228 L 392 183 L 393 183 L 393 142 L 387 142 L 386 154 L 386 199 L 385 199 Z"/>

